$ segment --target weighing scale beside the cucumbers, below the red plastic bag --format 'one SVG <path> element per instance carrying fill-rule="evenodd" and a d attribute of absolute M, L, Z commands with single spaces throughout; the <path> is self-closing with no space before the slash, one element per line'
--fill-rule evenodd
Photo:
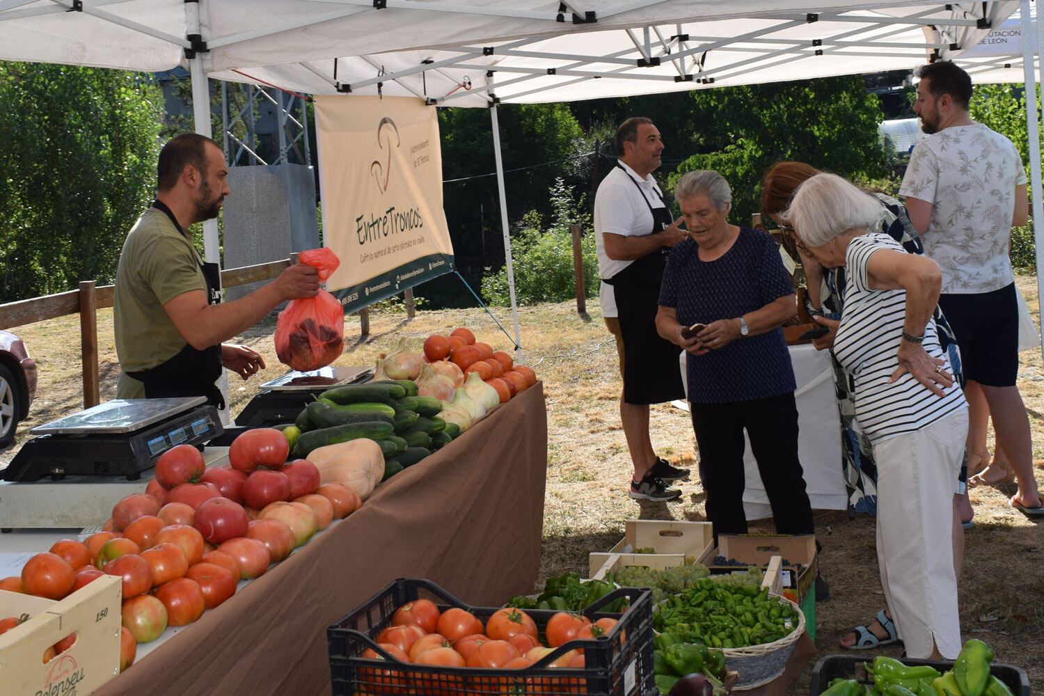
<path fill-rule="evenodd" d="M 373 374 L 372 367 L 350 366 L 287 373 L 261 385 L 258 394 L 236 416 L 236 425 L 265 428 L 293 423 L 302 409 L 327 389 L 362 382 Z"/>

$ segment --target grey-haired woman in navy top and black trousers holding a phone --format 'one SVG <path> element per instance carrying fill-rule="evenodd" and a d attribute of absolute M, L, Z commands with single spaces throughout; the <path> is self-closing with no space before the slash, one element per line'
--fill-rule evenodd
<path fill-rule="evenodd" d="M 674 198 L 689 238 L 670 253 L 656 323 L 688 352 L 687 397 L 714 536 L 746 533 L 744 429 L 776 530 L 811 534 L 793 368 L 780 329 L 798 313 L 790 277 L 772 237 L 729 224 L 732 191 L 719 173 L 684 174 Z M 705 326 L 690 334 L 697 323 Z"/>

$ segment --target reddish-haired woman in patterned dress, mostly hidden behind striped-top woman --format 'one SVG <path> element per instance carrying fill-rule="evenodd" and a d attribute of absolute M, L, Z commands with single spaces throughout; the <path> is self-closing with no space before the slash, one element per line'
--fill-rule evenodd
<path fill-rule="evenodd" d="M 812 256 L 801 238 L 786 224 L 783 214 L 789 207 L 794 192 L 807 179 L 823 173 L 818 169 L 803 162 L 778 162 L 765 172 L 762 193 L 761 213 L 772 217 L 792 236 L 801 256 L 808 288 L 807 309 L 812 318 L 827 327 L 829 332 L 812 341 L 818 350 L 830 350 L 830 359 L 834 367 L 834 386 L 837 394 L 837 407 L 840 411 L 841 427 L 841 465 L 846 485 L 851 491 L 849 504 L 860 512 L 876 514 L 877 511 L 877 462 L 870 438 L 856 428 L 855 398 L 852 376 L 837 361 L 833 353 L 834 338 L 845 310 L 846 270 L 844 266 L 836 268 L 824 267 Z M 881 206 L 881 217 L 878 231 L 894 239 L 909 254 L 924 255 L 921 238 L 910 223 L 906 208 L 896 198 L 882 191 L 860 189 L 872 195 Z M 950 325 L 943 316 L 942 310 L 935 307 L 932 313 L 939 342 L 946 353 L 952 367 L 954 379 L 963 383 L 960 370 L 960 354 L 956 338 Z M 958 476 L 957 489 L 954 497 L 955 512 L 963 524 L 971 522 L 973 512 L 968 502 L 965 481 L 967 479 L 967 461 L 963 463 Z M 954 557 L 959 569 L 964 557 L 963 530 L 954 531 Z M 856 626 L 845 635 L 840 645 L 849 649 L 870 649 L 897 642 L 898 635 L 889 614 L 882 609 L 868 625 Z"/>

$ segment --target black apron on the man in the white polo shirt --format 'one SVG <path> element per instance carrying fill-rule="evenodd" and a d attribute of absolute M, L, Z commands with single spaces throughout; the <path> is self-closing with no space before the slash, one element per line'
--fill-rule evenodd
<path fill-rule="evenodd" d="M 616 166 L 620 167 L 619 164 Z M 663 197 L 657 194 L 660 202 L 664 202 L 663 208 L 652 208 L 638 182 L 630 174 L 627 177 L 638 188 L 652 215 L 652 230 L 649 234 L 669 227 L 673 220 Z M 660 283 L 663 281 L 663 270 L 667 266 L 669 254 L 669 248 L 657 249 L 635 259 L 612 278 L 603 279 L 613 286 L 613 295 L 616 297 L 620 334 L 623 337 L 623 401 L 627 404 L 662 404 L 685 399 L 678 360 L 680 349 L 661 338 L 656 330 Z"/>

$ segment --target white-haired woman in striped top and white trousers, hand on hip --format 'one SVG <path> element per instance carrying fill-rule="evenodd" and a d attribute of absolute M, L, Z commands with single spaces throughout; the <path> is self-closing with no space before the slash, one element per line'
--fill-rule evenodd
<path fill-rule="evenodd" d="M 932 312 L 942 275 L 880 229 L 881 206 L 834 174 L 794 193 L 784 218 L 826 267 L 847 272 L 834 355 L 877 460 L 881 584 L 909 657 L 960 651 L 951 523 L 968 405 Z"/>

